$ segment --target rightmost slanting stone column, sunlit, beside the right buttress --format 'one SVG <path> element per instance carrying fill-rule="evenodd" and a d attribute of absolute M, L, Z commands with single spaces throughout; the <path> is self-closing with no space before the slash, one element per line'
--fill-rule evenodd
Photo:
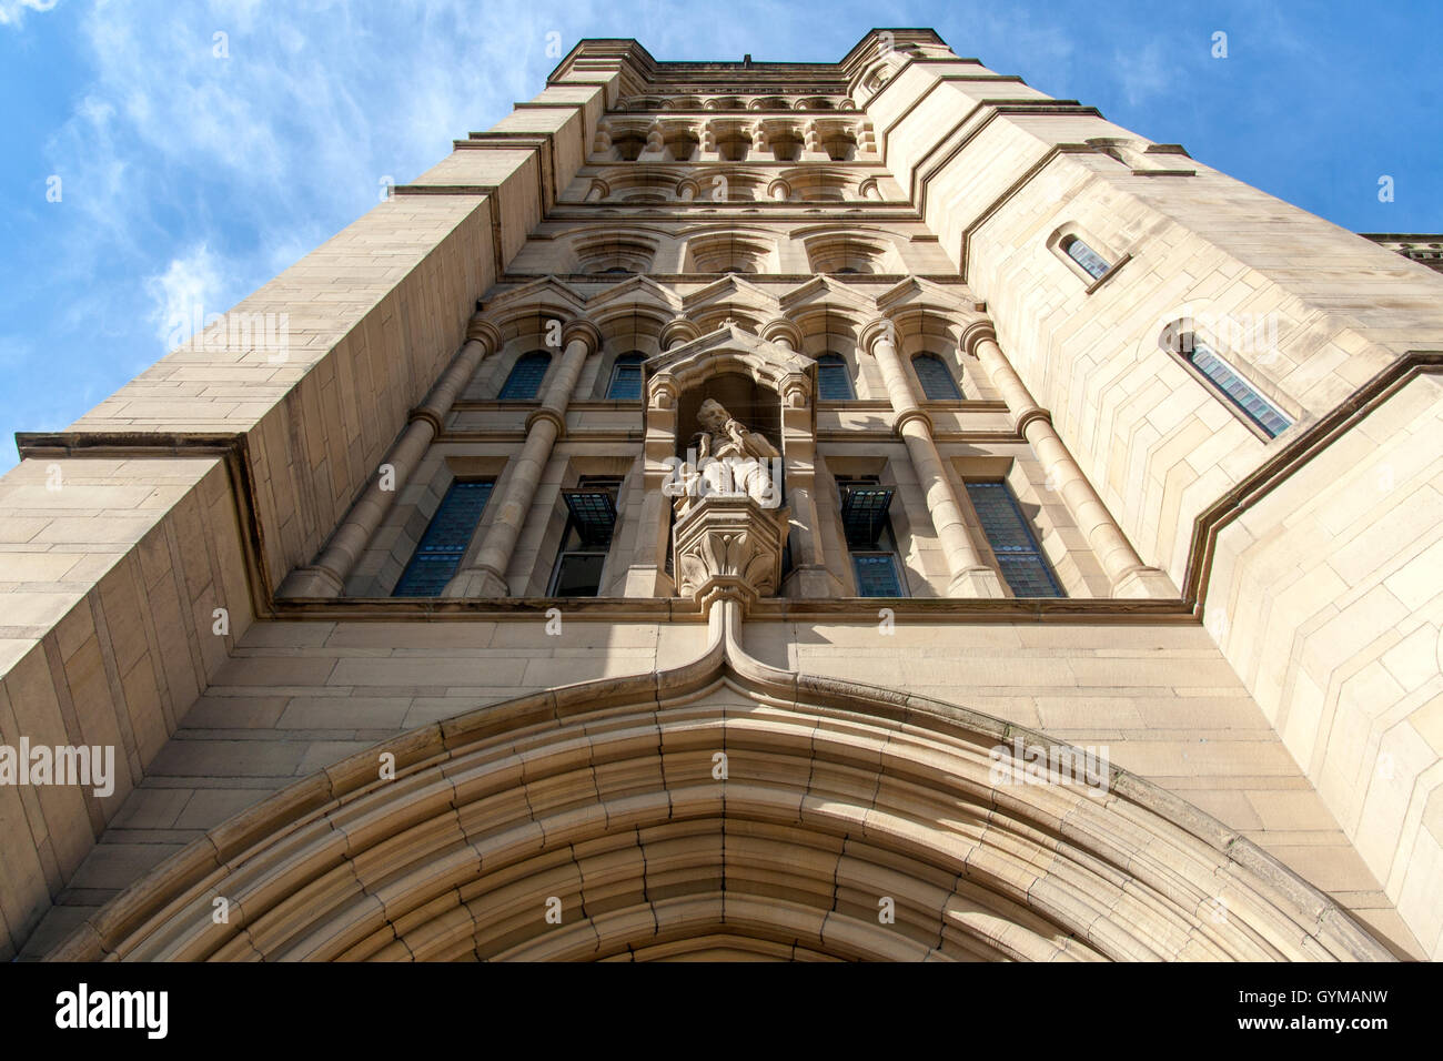
<path fill-rule="evenodd" d="M 1072 521 L 1087 534 L 1088 544 L 1097 553 L 1108 582 L 1113 583 L 1113 596 L 1177 596 L 1172 580 L 1156 567 L 1144 564 L 1137 556 L 1123 528 L 1113 520 L 1102 498 L 1092 489 L 1092 484 L 1058 436 L 1052 426 L 1052 414 L 1036 403 L 1032 391 L 1017 375 L 1017 370 L 1001 352 L 993 326 L 986 322 L 971 325 L 962 333 L 962 346 L 977 358 L 997 394 L 1007 403 L 1013 426 L 1038 455 L 1048 482 L 1062 495 L 1062 504 L 1066 505 Z"/>

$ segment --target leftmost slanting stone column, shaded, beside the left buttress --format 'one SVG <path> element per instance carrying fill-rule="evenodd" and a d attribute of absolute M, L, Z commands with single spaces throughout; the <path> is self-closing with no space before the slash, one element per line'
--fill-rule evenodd
<path fill-rule="evenodd" d="M 391 446 L 375 478 L 330 536 L 326 549 L 312 566 L 291 572 L 277 590 L 277 596 L 335 598 L 345 592 L 346 579 L 355 569 L 356 560 L 391 510 L 397 494 L 404 489 L 411 472 L 426 456 L 431 439 L 442 432 L 452 404 L 475 375 L 482 358 L 499 348 L 501 332 L 491 322 L 473 316 L 466 329 L 465 345 L 452 358 L 426 400 L 411 410 L 401 437 Z"/>

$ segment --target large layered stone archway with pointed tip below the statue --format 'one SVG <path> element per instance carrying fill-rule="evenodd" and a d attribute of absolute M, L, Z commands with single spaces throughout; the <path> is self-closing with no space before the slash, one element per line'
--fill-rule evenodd
<path fill-rule="evenodd" d="M 1390 960 L 1176 797 L 1117 769 L 1102 795 L 997 784 L 999 745 L 1056 745 L 772 668 L 740 615 L 719 601 L 675 670 L 478 709 L 312 775 L 52 959 Z"/>

